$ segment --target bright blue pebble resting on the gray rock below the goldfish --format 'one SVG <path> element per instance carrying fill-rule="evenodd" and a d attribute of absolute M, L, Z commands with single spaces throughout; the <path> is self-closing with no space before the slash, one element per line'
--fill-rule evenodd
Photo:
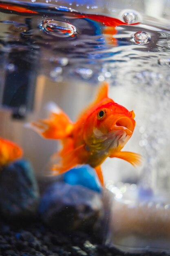
<path fill-rule="evenodd" d="M 97 192 L 102 191 L 102 186 L 95 170 L 87 164 L 66 172 L 64 174 L 64 182 L 71 185 L 82 185 Z"/>

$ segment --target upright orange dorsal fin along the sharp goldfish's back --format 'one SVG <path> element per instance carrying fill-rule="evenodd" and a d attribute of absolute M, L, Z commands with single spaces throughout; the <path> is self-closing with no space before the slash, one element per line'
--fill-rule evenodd
<path fill-rule="evenodd" d="M 78 118 L 82 117 L 89 109 L 91 109 L 93 106 L 95 106 L 97 103 L 102 101 L 105 98 L 108 98 L 108 88 L 109 84 L 108 82 L 104 81 L 102 85 L 99 86 L 98 91 L 97 91 L 97 97 L 95 100 L 90 103 L 80 114 L 78 115 Z"/>

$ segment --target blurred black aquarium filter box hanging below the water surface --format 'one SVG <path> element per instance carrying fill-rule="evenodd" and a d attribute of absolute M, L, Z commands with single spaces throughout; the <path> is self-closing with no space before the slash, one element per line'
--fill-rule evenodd
<path fill-rule="evenodd" d="M 12 117 L 23 119 L 33 110 L 38 51 L 34 48 L 8 54 L 1 81 L 0 105 L 12 109 Z"/>

